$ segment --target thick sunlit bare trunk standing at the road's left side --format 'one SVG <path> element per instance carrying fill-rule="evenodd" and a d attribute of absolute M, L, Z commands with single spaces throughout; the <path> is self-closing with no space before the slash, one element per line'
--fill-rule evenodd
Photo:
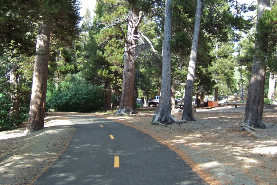
<path fill-rule="evenodd" d="M 44 128 L 51 25 L 40 24 L 36 46 L 30 112 L 26 134 Z"/>

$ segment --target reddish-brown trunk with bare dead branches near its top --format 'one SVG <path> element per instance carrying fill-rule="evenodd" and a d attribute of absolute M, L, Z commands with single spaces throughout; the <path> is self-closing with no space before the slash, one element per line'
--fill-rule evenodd
<path fill-rule="evenodd" d="M 135 45 L 137 44 L 136 35 L 138 34 L 138 26 L 140 23 L 139 12 L 140 10 L 137 6 L 134 6 L 130 10 L 125 41 L 122 94 L 119 108 L 115 114 L 134 113 Z"/>

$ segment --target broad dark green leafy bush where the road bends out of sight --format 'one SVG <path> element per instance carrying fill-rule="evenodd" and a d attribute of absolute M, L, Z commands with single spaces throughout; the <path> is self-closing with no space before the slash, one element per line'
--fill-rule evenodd
<path fill-rule="evenodd" d="M 102 87 L 86 83 L 80 75 L 61 83 L 60 87 L 46 96 L 47 109 L 69 112 L 91 112 L 102 108 Z"/>

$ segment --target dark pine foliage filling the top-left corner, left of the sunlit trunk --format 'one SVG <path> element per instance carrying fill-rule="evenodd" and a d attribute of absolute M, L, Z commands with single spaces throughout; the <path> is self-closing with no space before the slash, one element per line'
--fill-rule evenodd
<path fill-rule="evenodd" d="M 35 0 L 0 2 L 0 55 L 34 54 L 37 11 Z M 17 52 L 14 52 L 17 51 Z"/>

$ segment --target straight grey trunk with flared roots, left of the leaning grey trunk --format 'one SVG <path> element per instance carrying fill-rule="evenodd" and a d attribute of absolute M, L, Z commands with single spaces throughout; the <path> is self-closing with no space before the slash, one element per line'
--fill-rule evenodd
<path fill-rule="evenodd" d="M 159 107 L 156 110 L 152 122 L 161 123 L 175 122 L 176 119 L 171 116 L 171 14 L 172 0 L 165 2 L 165 23 L 163 38 L 163 66 L 162 66 L 162 86 Z"/>

